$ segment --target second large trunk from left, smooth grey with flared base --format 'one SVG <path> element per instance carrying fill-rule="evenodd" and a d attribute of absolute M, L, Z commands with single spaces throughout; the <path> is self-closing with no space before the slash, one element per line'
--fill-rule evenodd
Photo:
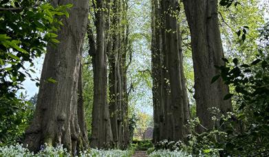
<path fill-rule="evenodd" d="M 109 105 L 107 103 L 107 56 L 105 53 L 105 8 L 103 0 L 96 1 L 96 53 L 92 55 L 94 67 L 94 106 L 92 112 L 91 147 L 105 148 L 112 144 Z M 94 47 L 94 46 L 92 46 Z"/>

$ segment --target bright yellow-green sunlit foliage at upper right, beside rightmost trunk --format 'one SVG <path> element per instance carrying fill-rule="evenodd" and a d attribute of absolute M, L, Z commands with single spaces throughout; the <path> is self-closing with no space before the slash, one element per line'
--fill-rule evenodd
<path fill-rule="evenodd" d="M 219 7 L 222 43 L 227 59 L 253 61 L 259 47 L 259 29 L 265 23 L 259 0 L 241 0 L 240 5 Z"/>

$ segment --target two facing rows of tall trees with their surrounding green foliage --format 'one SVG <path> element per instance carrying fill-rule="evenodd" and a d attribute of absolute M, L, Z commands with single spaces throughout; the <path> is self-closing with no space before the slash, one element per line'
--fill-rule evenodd
<path fill-rule="evenodd" d="M 258 0 L 1 1 L 0 144 L 127 149 L 145 81 L 156 149 L 167 140 L 193 154 L 266 156 L 266 8 Z M 137 71 L 141 45 L 151 64 Z M 39 86 L 30 101 L 19 96 L 27 77 Z"/>

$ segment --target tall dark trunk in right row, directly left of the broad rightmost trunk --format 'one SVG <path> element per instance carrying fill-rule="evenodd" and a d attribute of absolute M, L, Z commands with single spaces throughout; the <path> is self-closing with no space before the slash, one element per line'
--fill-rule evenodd
<path fill-rule="evenodd" d="M 169 112 L 172 116 L 173 134 L 171 137 L 173 140 L 182 140 L 184 137 L 184 113 L 183 113 L 183 90 L 182 90 L 182 76 L 180 73 L 180 53 L 178 43 L 180 37 L 177 36 L 177 10 L 178 3 L 176 0 L 166 1 L 166 56 L 169 60 L 169 83 L 171 88 L 171 106 Z M 171 10 L 169 10 L 171 9 Z M 171 139 L 171 140 L 172 140 Z"/>

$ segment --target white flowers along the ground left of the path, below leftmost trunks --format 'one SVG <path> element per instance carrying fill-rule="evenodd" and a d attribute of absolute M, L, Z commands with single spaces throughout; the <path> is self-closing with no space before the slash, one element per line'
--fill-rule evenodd
<path fill-rule="evenodd" d="M 133 151 L 131 150 L 118 150 L 118 149 L 110 149 L 110 150 L 104 150 L 104 149 L 89 149 L 87 151 L 80 152 L 78 156 L 87 157 L 87 156 L 96 156 L 96 157 L 129 157 L 133 154 Z M 58 145 L 57 147 L 50 147 L 47 145 L 44 145 L 41 147 L 41 151 L 39 153 L 34 154 L 33 152 L 29 151 L 29 149 L 23 147 L 23 145 L 10 145 L 10 146 L 4 146 L 0 147 L 0 156 L 44 156 L 44 157 L 62 157 L 66 156 L 69 157 L 71 154 L 67 151 L 67 149 L 63 148 L 63 145 Z"/>

